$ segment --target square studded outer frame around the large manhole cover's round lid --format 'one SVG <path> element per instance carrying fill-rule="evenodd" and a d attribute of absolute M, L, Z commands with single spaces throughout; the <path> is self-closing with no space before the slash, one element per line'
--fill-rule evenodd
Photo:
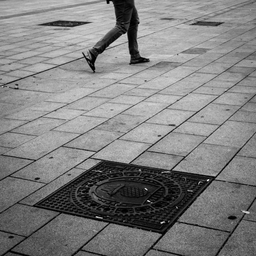
<path fill-rule="evenodd" d="M 79 204 L 79 201 L 78 201 L 78 203 L 75 202 L 75 204 L 74 204 L 74 202 L 72 203 L 71 202 L 72 199 L 70 200 L 70 198 L 72 197 L 72 193 L 74 192 L 74 190 L 76 190 L 76 188 L 78 189 L 79 186 L 81 186 L 80 183 L 84 183 L 84 182 L 87 182 L 88 180 L 90 180 L 90 178 L 87 177 L 90 172 L 93 172 L 94 175 L 95 175 L 95 172 L 97 174 L 99 174 L 96 177 L 100 177 L 101 175 L 103 175 L 103 176 L 106 175 L 106 173 L 102 174 L 102 171 L 97 170 L 100 168 L 104 168 L 104 166 L 107 168 L 116 168 L 116 169 L 121 170 L 121 172 L 125 172 L 128 174 L 137 173 L 137 175 L 138 175 L 137 177 L 139 177 L 141 174 L 144 174 L 144 173 L 145 173 L 145 175 L 148 175 L 151 172 L 154 172 L 151 174 L 157 175 L 157 177 L 160 175 L 163 177 L 168 177 L 169 179 L 177 181 L 177 183 L 182 184 L 182 185 L 185 184 L 184 182 L 188 182 L 188 180 L 193 180 L 193 182 L 194 182 L 193 185 L 191 185 L 189 187 L 194 187 L 194 186 L 200 185 L 200 188 L 195 191 L 194 189 L 190 190 L 190 189 L 188 189 L 187 186 L 185 186 L 186 187 L 186 195 L 189 195 L 189 199 L 187 199 L 186 197 L 184 198 L 184 197 L 180 196 L 180 198 L 177 198 L 177 200 L 176 200 L 177 204 L 175 205 L 175 207 L 172 205 L 171 211 L 169 211 L 170 209 L 168 208 L 168 206 L 164 205 L 162 207 L 163 209 L 160 209 L 161 207 L 159 208 L 160 209 L 159 212 L 155 211 L 152 214 L 150 214 L 150 212 L 149 212 L 149 214 L 148 214 L 148 212 L 142 212 L 141 217 L 140 216 L 137 217 L 136 215 L 134 215 L 134 216 L 122 218 L 122 217 L 113 216 L 110 214 L 110 212 L 103 213 L 102 211 L 93 210 L 93 209 L 91 209 L 88 212 L 86 210 L 81 209 L 81 207 L 80 207 L 82 205 L 81 202 L 80 202 L 80 204 Z M 113 171 L 113 174 L 116 174 L 117 172 L 120 172 L 120 171 L 117 171 L 117 170 L 116 170 L 116 172 Z M 156 174 L 156 173 L 158 173 L 158 174 Z M 109 173 L 107 173 L 107 174 L 109 174 Z M 171 177 L 171 175 L 174 175 L 175 177 Z M 132 175 L 129 175 L 129 176 L 132 176 Z M 124 176 L 124 177 L 128 177 L 128 176 Z M 177 177 L 179 177 L 179 178 L 177 178 Z M 93 177 L 93 178 L 95 178 L 95 177 Z M 81 179 L 83 180 L 82 182 L 81 182 Z M 177 218 L 179 218 L 180 215 L 195 201 L 195 199 L 204 191 L 204 189 L 206 189 L 207 186 L 209 186 L 209 184 L 212 182 L 212 180 L 214 180 L 214 177 L 208 176 L 208 175 L 195 175 L 195 174 L 186 173 L 186 172 L 168 171 L 165 169 L 156 169 L 156 168 L 151 168 L 151 167 L 146 167 L 146 166 L 137 166 L 137 165 L 132 165 L 132 164 L 116 163 L 116 162 L 104 160 L 104 161 L 99 162 L 92 168 L 85 170 L 81 175 L 79 175 L 75 179 L 71 180 L 69 183 L 65 184 L 64 186 L 62 186 L 61 188 L 59 188 L 52 194 L 48 195 L 46 198 L 42 199 L 41 201 L 36 203 L 34 206 L 39 207 L 39 208 L 57 211 L 57 212 L 62 212 L 62 213 L 70 214 L 70 215 L 76 215 L 76 216 L 80 216 L 80 217 L 90 218 L 90 219 L 94 219 L 94 220 L 98 220 L 98 221 L 107 221 L 107 222 L 114 223 L 114 224 L 121 224 L 121 225 L 129 226 L 129 227 L 137 227 L 140 229 L 150 230 L 150 231 L 154 231 L 157 233 L 164 233 L 167 229 L 169 229 L 169 227 L 171 227 L 175 223 Z M 76 185 L 70 186 L 73 183 Z M 97 182 L 97 183 L 99 183 L 99 182 Z M 182 187 L 182 185 L 180 185 L 180 186 Z M 48 204 L 49 200 L 53 200 L 55 202 L 55 199 L 60 197 L 58 195 L 65 189 L 67 190 L 66 193 L 69 194 L 65 197 L 66 201 L 69 201 L 69 205 L 66 208 L 56 207 L 56 206 L 49 207 L 49 206 L 45 205 L 45 204 Z M 88 196 L 85 198 L 86 199 L 84 201 L 86 201 L 88 199 Z M 123 204 L 123 202 L 121 202 L 120 204 Z M 104 207 L 108 207 L 108 206 L 105 205 Z M 119 206 L 117 206 L 117 207 L 119 207 Z M 145 206 L 141 206 L 141 207 L 145 207 Z M 151 207 L 151 202 L 148 203 L 148 205 L 146 205 L 145 209 L 147 207 Z M 72 209 L 72 210 L 70 210 L 70 209 Z M 76 212 L 74 212 L 74 209 L 76 209 Z M 161 210 L 163 212 L 161 212 Z M 125 215 L 125 213 L 123 213 L 123 215 Z M 162 215 L 164 215 L 164 216 L 162 216 Z M 174 215 L 174 216 L 172 216 L 172 215 Z M 169 218 L 166 218 L 166 216 L 172 216 L 172 218 L 169 219 Z M 159 220 L 157 219 L 157 223 L 155 221 L 154 222 L 148 221 L 148 219 L 154 219 L 154 218 L 159 218 Z M 127 221 L 127 219 L 129 219 L 129 221 Z"/>

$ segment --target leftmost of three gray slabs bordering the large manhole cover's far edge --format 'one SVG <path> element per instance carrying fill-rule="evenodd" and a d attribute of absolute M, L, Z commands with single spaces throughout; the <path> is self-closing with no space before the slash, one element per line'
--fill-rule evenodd
<path fill-rule="evenodd" d="M 151 144 L 148 143 L 115 140 L 110 145 L 96 153 L 93 158 L 119 163 L 130 163 L 150 146 Z"/>

